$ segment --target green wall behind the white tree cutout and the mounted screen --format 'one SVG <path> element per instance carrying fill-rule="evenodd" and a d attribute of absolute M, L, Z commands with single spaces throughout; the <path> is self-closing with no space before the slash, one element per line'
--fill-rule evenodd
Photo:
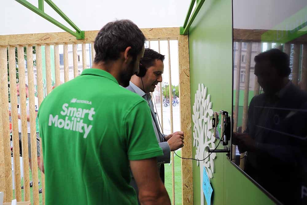
<path fill-rule="evenodd" d="M 213 111 L 223 109 L 229 114 L 232 112 L 231 6 L 230 0 L 206 0 L 189 29 L 191 105 L 198 84 L 204 84 L 207 93 L 211 94 Z M 196 149 L 192 152 L 195 156 Z M 214 164 L 213 204 L 274 204 L 227 160 L 224 153 L 217 153 Z M 196 161 L 193 161 L 193 194 L 194 204 L 200 204 L 200 167 L 196 166 Z"/>

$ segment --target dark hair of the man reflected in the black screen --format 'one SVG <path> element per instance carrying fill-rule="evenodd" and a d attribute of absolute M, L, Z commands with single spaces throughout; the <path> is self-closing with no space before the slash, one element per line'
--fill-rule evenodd
<path fill-rule="evenodd" d="M 281 77 L 288 77 L 291 73 L 289 56 L 279 49 L 270 49 L 259 53 L 254 60 L 255 63 L 269 61 Z"/>

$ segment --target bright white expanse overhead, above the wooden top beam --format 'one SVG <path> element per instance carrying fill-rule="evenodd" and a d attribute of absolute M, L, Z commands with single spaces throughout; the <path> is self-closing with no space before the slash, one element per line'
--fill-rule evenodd
<path fill-rule="evenodd" d="M 130 19 L 139 28 L 179 27 L 183 25 L 189 0 L 52 0 L 81 30 L 100 30 L 107 22 Z M 38 0 L 28 0 L 38 7 Z M 0 35 L 61 32 L 60 28 L 14 0 L 2 0 Z M 65 26 L 65 22 L 46 2 L 45 13 Z"/>

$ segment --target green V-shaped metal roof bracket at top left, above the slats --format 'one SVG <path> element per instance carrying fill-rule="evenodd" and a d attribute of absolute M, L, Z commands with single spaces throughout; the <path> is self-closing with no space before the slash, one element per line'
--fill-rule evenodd
<path fill-rule="evenodd" d="M 84 31 L 81 31 L 51 0 L 38 0 L 38 8 L 26 0 L 15 0 L 15 1 L 27 7 L 31 11 L 40 15 L 41 17 L 45 18 L 46 20 L 53 23 L 54 25 L 60 27 L 64 31 L 68 32 L 69 34 L 72 34 L 77 39 L 84 39 Z M 64 26 L 63 24 L 61 24 L 60 22 L 56 21 L 54 18 L 46 14 L 44 12 L 44 1 L 48 3 L 49 6 L 51 6 L 52 9 L 55 10 L 66 22 L 68 22 L 69 25 L 71 25 L 76 30 L 76 32 L 74 32 L 73 30 L 69 29 L 68 27 Z"/>

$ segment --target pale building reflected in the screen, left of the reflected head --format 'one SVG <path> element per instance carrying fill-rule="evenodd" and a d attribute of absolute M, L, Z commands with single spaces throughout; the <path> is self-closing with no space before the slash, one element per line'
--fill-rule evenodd
<path fill-rule="evenodd" d="M 249 83 L 249 90 L 254 90 L 255 85 L 255 75 L 254 75 L 254 68 L 255 68 L 255 61 L 254 57 L 261 52 L 261 43 L 252 43 L 252 50 L 251 50 L 251 73 L 250 73 L 250 83 Z M 237 79 L 237 63 L 238 63 L 238 42 L 234 44 L 234 79 Z M 240 70 L 240 90 L 244 90 L 244 84 L 246 81 L 246 57 L 247 57 L 247 42 L 242 42 L 242 51 L 241 51 L 241 70 Z M 236 81 L 234 80 L 234 89 L 236 88 Z"/>

